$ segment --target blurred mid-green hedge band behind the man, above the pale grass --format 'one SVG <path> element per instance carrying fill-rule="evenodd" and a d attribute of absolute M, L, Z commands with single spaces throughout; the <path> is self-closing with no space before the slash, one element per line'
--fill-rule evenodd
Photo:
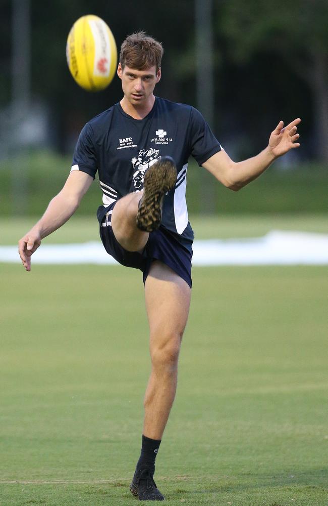
<path fill-rule="evenodd" d="M 0 214 L 20 215 L 23 204 L 15 202 L 13 185 L 15 167 L 25 177 L 25 187 L 19 181 L 20 199 L 24 200 L 24 215 L 40 216 L 49 200 L 63 187 L 71 167 L 71 157 L 49 152 L 7 160 L 0 170 Z M 201 212 L 202 202 L 210 191 L 214 213 L 326 213 L 328 171 L 321 165 L 301 165 L 282 168 L 272 165 L 258 180 L 233 192 L 216 182 L 193 160 L 188 168 L 187 204 L 190 214 Z M 204 181 L 206 185 L 204 185 Z M 79 215 L 93 216 L 101 202 L 97 179 L 92 183 L 78 210 Z"/>

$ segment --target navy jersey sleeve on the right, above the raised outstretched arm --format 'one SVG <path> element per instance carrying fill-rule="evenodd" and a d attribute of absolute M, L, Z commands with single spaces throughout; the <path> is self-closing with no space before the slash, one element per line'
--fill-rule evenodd
<path fill-rule="evenodd" d="M 190 115 L 191 154 L 201 166 L 208 158 L 223 150 L 203 116 L 194 107 Z"/>

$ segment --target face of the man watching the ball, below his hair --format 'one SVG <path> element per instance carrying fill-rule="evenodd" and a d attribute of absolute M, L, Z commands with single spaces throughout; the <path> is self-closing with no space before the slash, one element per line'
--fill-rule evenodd
<path fill-rule="evenodd" d="M 155 65 L 146 70 L 136 70 L 128 66 L 122 69 L 121 63 L 119 63 L 117 73 L 122 80 L 122 89 L 125 97 L 134 106 L 147 102 L 161 75 L 160 68 L 156 72 Z"/>

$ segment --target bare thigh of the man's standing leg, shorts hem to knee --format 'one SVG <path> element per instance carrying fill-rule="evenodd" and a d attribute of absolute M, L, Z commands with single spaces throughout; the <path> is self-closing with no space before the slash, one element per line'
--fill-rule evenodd
<path fill-rule="evenodd" d="M 154 261 L 145 282 L 146 310 L 150 328 L 150 347 L 165 346 L 168 340 L 179 342 L 190 306 L 188 283 L 170 267 Z"/>

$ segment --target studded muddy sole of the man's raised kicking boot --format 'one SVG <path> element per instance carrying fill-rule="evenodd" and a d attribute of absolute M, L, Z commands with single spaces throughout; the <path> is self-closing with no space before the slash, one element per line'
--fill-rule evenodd
<path fill-rule="evenodd" d="M 144 232 L 153 232 L 161 222 L 164 195 L 177 181 L 177 167 L 170 156 L 163 156 L 148 168 L 143 196 L 139 202 L 136 224 Z"/>

